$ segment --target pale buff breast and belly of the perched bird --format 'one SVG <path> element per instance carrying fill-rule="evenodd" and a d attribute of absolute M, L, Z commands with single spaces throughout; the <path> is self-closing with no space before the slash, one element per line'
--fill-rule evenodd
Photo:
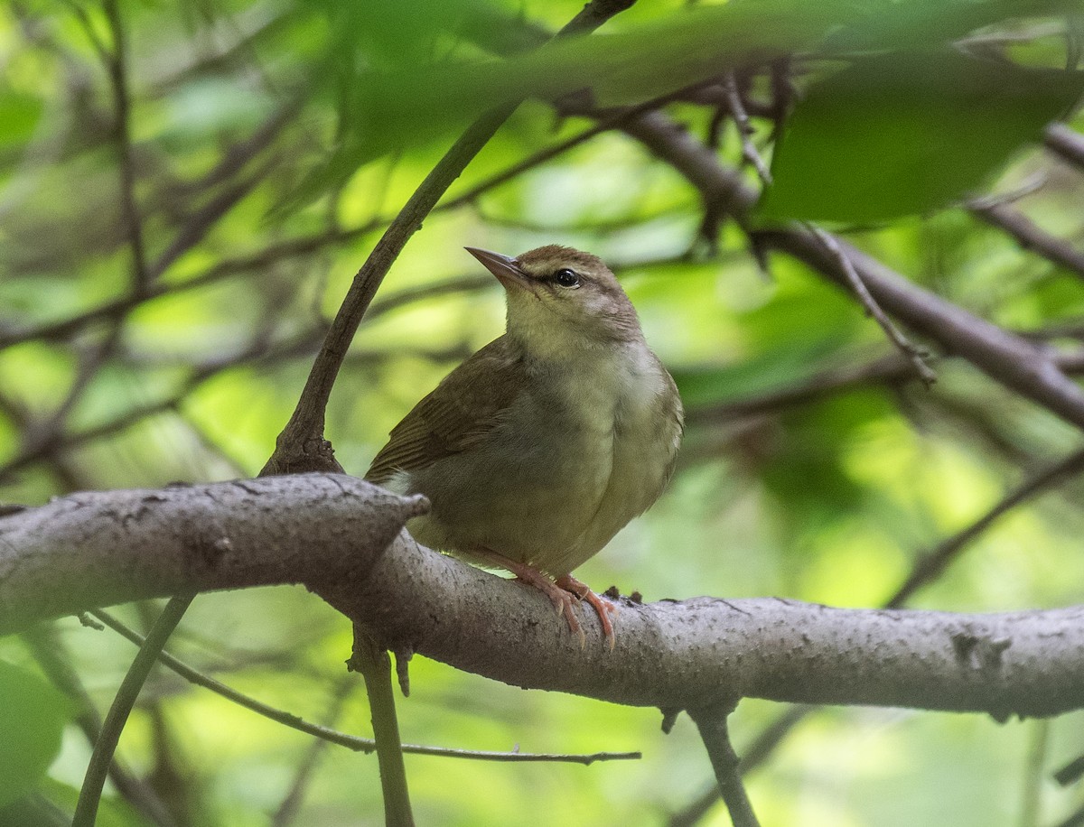
<path fill-rule="evenodd" d="M 412 533 L 568 573 L 666 486 L 681 436 L 672 387 L 642 345 L 571 369 L 537 366 L 483 444 L 402 480 L 434 506 Z"/>

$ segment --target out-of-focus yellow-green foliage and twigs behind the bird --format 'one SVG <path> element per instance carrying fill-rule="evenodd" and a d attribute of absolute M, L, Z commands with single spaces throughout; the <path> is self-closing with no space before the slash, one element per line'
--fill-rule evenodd
<path fill-rule="evenodd" d="M 988 5 L 993 17 L 1003 14 Z M 790 113 L 791 167 L 846 166 L 851 115 L 887 169 L 916 141 L 943 141 L 937 152 L 946 152 L 954 133 L 919 139 L 892 120 L 907 111 L 893 105 L 892 83 L 833 115 L 829 134 L 840 143 L 826 140 L 823 155 L 808 158 L 799 153 L 809 146 L 799 142 L 802 101 L 823 101 L 817 83 L 838 77 L 814 60 L 726 66 L 730 75 L 685 67 L 660 81 L 666 89 L 625 79 L 617 103 L 568 98 L 578 81 L 553 87 L 563 76 L 550 63 L 533 75 L 512 73 L 520 87 L 494 87 L 483 73 L 477 88 L 437 85 L 425 100 L 447 92 L 451 112 L 410 99 L 435 64 L 532 47 L 581 7 L 12 0 L 0 8 L 0 502 L 257 474 L 351 279 L 454 139 L 456 117 L 472 114 L 463 101 L 485 108 L 513 92 L 541 100 L 515 112 L 426 218 L 358 333 L 327 422 L 348 473 L 364 474 L 390 427 L 503 332 L 503 293 L 464 245 L 515 255 L 560 243 L 602 256 L 682 391 L 687 430 L 678 473 L 647 515 L 578 570 L 597 591 L 616 584 L 645 600 L 778 595 L 878 606 L 922 555 L 1079 450 L 1074 427 L 935 348 L 938 382 L 926 387 L 851 295 L 783 255 L 758 260 L 726 210 L 623 131 L 615 108 L 667 93 L 669 121 L 758 191 L 736 96 L 750 117 L 749 141 L 776 172 L 776 212 L 786 215 L 836 197 L 826 192 L 830 177 L 785 180 L 788 144 L 773 141 Z M 642 2 L 596 37 L 655 33 L 681 47 L 663 35 L 683 36 L 666 27 L 685 7 Z M 999 26 L 965 27 L 971 54 L 1041 69 L 1075 60 L 1079 16 L 1003 16 Z M 786 35 L 801 49 L 813 38 L 808 29 L 830 28 L 802 25 Z M 605 65 L 594 60 L 603 47 L 576 49 L 563 57 L 570 77 Z M 645 54 L 648 69 L 666 59 Z M 554 96 L 564 103 L 555 106 Z M 917 209 L 889 204 L 886 212 L 879 202 L 880 212 L 866 215 L 841 183 L 842 207 L 795 215 L 831 221 L 908 280 L 1084 367 L 1084 153 L 1074 160 L 1071 152 L 1084 143 L 1084 120 L 1066 105 L 1072 89 L 1054 98 L 1049 112 L 1036 104 L 1020 127 L 995 118 L 1012 140 L 959 184 L 967 192 L 938 192 Z M 865 117 L 867 105 L 880 109 Z M 922 101 L 915 108 L 929 111 Z M 1060 131 L 1044 133 L 1062 113 Z M 965 122 L 962 134 L 973 126 Z M 874 181 L 870 190 L 893 186 Z M 1022 245 L 1006 216 L 1061 255 Z M 1082 494 L 1084 483 L 1070 477 L 1011 509 L 907 605 L 999 611 L 1080 603 Z M 144 605 L 117 613 L 145 631 L 155 612 Z M 43 646 L 100 711 L 136 651 L 72 618 L 35 639 L 0 639 L 0 659 L 55 683 Z M 364 693 L 344 669 L 349 624 L 302 589 L 201 596 L 168 649 L 268 703 L 371 734 Z M 732 723 L 738 752 L 784 712 L 743 701 Z M 399 713 L 412 744 L 644 753 L 591 766 L 408 757 L 421 824 L 730 823 L 721 805 L 697 805 L 713 781 L 685 718 L 663 735 L 658 710 L 524 692 L 422 658 Z M 1081 713 L 997 723 L 816 710 L 750 773 L 749 790 L 765 825 L 1056 825 L 1084 801 L 1084 790 L 1051 779 L 1084 752 L 1082 725 Z M 46 798 L 70 806 L 89 752 L 68 724 Z M 375 757 L 313 749 L 308 736 L 166 670 L 152 674 L 118 754 L 178 824 L 383 818 Z M 111 794 L 100 824 L 152 824 Z"/>

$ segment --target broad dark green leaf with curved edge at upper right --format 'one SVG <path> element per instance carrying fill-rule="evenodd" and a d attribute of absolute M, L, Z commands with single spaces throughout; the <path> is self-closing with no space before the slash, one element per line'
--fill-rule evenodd
<path fill-rule="evenodd" d="M 1082 90 L 1081 72 L 947 50 L 857 59 L 796 107 L 760 215 L 877 222 L 938 209 L 978 192 Z"/>

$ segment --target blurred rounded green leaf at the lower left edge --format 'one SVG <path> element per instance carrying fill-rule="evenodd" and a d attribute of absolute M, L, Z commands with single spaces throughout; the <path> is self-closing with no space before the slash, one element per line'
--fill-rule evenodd
<path fill-rule="evenodd" d="M 48 683 L 0 661 L 0 807 L 37 787 L 60 752 L 69 712 Z"/>

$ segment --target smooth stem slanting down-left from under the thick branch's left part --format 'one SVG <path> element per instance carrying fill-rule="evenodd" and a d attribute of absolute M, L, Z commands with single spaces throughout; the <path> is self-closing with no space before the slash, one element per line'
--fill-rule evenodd
<path fill-rule="evenodd" d="M 143 646 L 136 654 L 131 667 L 128 668 L 128 673 L 120 683 L 120 688 L 117 689 L 113 705 L 102 724 L 98 742 L 94 744 L 94 751 L 91 753 L 90 764 L 87 766 L 87 775 L 83 777 L 82 787 L 79 790 L 79 801 L 75 807 L 72 827 L 93 827 L 98 815 L 98 804 L 102 800 L 102 787 L 105 785 L 105 776 L 113 763 L 113 754 L 120 740 L 120 733 L 125 728 L 125 723 L 127 723 L 128 715 L 136 705 L 140 689 L 143 688 L 146 676 L 151 673 L 151 668 L 158 659 L 162 647 L 166 645 L 169 635 L 181 622 L 184 611 L 192 603 L 192 597 L 194 595 L 186 598 L 173 597 L 166 604 L 166 608 L 162 610 Z"/>

